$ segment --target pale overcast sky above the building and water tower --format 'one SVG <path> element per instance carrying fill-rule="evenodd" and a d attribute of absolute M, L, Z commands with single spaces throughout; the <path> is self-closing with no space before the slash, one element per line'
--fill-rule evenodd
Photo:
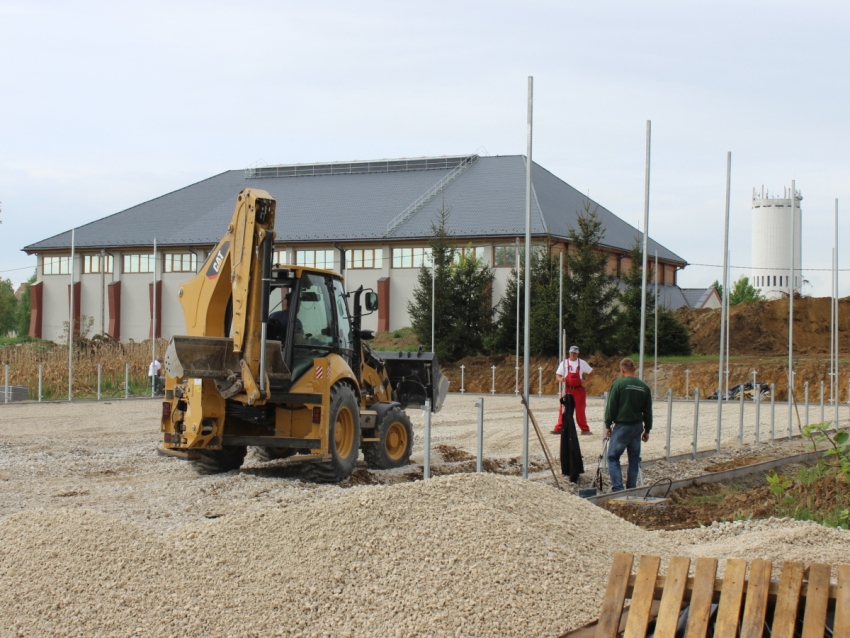
<path fill-rule="evenodd" d="M 722 263 L 727 151 L 735 266 L 753 187 L 795 179 L 804 274 L 826 295 L 834 199 L 850 210 L 848 17 L 742 0 L 0 0 L 0 276 L 32 274 L 27 244 L 257 162 L 524 154 L 531 75 L 535 161 L 635 226 L 652 120 L 650 235 L 691 264 Z M 716 278 L 691 265 L 679 284 Z"/>

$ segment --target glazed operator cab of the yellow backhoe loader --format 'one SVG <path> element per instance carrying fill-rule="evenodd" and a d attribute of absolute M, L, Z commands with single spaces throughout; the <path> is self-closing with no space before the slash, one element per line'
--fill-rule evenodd
<path fill-rule="evenodd" d="M 359 357 L 345 290 L 339 277 L 321 270 L 272 270 L 268 338 L 279 340 L 292 382 L 313 359 L 339 354 L 357 374 Z"/>

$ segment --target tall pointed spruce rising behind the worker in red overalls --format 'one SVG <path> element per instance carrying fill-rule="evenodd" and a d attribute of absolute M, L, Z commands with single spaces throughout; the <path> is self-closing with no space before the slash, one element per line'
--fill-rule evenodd
<path fill-rule="evenodd" d="M 577 221 L 578 228 L 570 229 L 570 250 L 564 260 L 569 273 L 564 278 L 567 338 L 583 352 L 613 354 L 619 323 L 616 304 L 619 290 L 615 277 L 607 272 L 608 253 L 599 249 L 605 227 L 596 208 L 591 210 L 589 201 L 585 202 Z"/>

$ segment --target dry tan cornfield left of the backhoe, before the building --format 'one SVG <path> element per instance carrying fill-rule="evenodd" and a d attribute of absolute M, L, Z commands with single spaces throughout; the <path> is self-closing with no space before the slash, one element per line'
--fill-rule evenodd
<path fill-rule="evenodd" d="M 157 356 L 165 354 L 168 342 L 157 340 Z M 130 365 L 130 394 L 144 394 L 149 386 L 150 340 L 119 343 L 95 339 L 79 340 L 74 346 L 74 396 L 97 395 L 97 369 L 102 365 L 101 392 L 124 395 L 125 366 Z M 42 397 L 68 396 L 68 346 L 52 342 L 25 343 L 0 349 L 0 363 L 9 366 L 9 385 L 29 388 L 30 399 L 38 398 L 38 367 L 43 366 Z M 0 371 L 2 372 L 2 371 Z M 0 378 L 0 383 L 3 379 Z"/>

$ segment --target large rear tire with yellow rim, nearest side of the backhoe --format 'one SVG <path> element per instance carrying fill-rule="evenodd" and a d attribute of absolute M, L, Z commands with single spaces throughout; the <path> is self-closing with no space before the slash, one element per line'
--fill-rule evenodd
<path fill-rule="evenodd" d="M 308 463 L 304 477 L 317 483 L 339 483 L 354 471 L 360 453 L 360 407 L 354 390 L 345 384 L 331 390 L 328 452 L 331 460 Z"/>

